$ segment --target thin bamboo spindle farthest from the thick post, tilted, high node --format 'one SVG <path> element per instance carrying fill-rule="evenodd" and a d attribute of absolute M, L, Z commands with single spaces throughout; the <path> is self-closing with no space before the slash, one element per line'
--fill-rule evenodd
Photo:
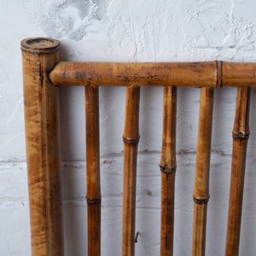
<path fill-rule="evenodd" d="M 239 253 L 241 207 L 249 131 L 250 93 L 248 87 L 237 88 L 236 115 L 233 128 L 233 155 L 230 180 L 230 206 L 226 256 Z"/>

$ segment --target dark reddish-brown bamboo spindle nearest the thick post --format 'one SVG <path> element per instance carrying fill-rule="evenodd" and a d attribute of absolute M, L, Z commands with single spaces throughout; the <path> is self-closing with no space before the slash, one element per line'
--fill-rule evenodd
<path fill-rule="evenodd" d="M 85 86 L 88 255 L 101 255 L 101 177 L 98 87 Z"/>

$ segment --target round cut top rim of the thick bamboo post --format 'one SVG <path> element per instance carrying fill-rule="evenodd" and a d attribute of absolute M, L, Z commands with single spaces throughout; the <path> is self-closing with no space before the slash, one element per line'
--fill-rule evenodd
<path fill-rule="evenodd" d="M 32 53 L 54 53 L 61 44 L 53 38 L 26 38 L 20 45 L 22 50 Z"/>

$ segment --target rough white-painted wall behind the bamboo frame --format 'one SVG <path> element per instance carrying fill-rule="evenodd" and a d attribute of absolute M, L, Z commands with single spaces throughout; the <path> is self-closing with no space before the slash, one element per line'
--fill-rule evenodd
<path fill-rule="evenodd" d="M 20 40 L 61 41 L 67 61 L 256 61 L 253 0 L 0 1 L 0 254 L 30 255 Z M 191 255 L 200 89 L 178 89 L 175 255 Z M 236 89 L 215 91 L 207 255 L 224 255 Z M 120 255 L 125 88 L 100 89 L 102 255 Z M 251 117 L 256 113 L 252 90 Z M 143 88 L 137 255 L 160 250 L 162 89 Z M 241 255 L 256 252 L 256 119 L 248 143 Z M 61 89 L 67 256 L 86 255 L 84 90 Z"/>

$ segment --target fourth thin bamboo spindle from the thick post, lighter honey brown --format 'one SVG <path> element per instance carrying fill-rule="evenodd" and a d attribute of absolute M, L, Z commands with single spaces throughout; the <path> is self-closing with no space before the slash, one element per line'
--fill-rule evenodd
<path fill-rule="evenodd" d="M 194 189 L 193 255 L 205 255 L 212 141 L 212 88 L 201 88 Z"/>

